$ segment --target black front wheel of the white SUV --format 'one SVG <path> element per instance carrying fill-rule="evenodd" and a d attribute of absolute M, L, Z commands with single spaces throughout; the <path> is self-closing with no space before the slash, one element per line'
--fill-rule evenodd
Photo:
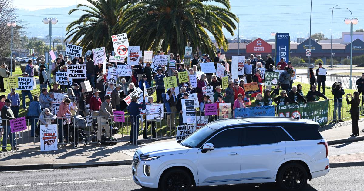
<path fill-rule="evenodd" d="M 159 185 L 163 191 L 190 191 L 192 180 L 185 170 L 177 168 L 167 171 Z"/>

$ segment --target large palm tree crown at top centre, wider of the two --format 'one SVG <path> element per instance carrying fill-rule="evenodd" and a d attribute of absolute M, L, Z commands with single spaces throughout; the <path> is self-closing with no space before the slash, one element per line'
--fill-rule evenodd
<path fill-rule="evenodd" d="M 225 8 L 207 1 L 221 3 Z M 222 30 L 234 36 L 234 22 L 238 22 L 230 12 L 229 0 L 137 0 L 129 5 L 119 20 L 118 33 L 126 29 L 130 45 L 140 45 L 144 50 L 169 50 L 181 56 L 187 45 L 193 47 L 193 52 L 215 55 L 209 33 L 218 47 L 227 50 Z"/>

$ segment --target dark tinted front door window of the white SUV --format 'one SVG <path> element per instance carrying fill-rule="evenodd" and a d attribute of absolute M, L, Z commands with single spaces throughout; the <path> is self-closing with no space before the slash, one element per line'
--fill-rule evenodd
<path fill-rule="evenodd" d="M 242 128 L 232 128 L 221 131 L 207 142 L 212 143 L 215 148 L 240 146 L 239 135 L 241 134 L 241 129 Z"/>

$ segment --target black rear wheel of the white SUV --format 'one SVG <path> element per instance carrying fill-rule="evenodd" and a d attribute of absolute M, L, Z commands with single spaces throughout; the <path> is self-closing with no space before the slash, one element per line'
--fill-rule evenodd
<path fill-rule="evenodd" d="M 284 164 L 277 175 L 277 183 L 284 190 L 301 190 L 307 179 L 306 169 L 298 163 Z"/>

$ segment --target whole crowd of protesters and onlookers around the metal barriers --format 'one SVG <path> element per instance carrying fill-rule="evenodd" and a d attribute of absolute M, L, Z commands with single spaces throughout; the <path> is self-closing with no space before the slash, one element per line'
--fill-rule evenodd
<path fill-rule="evenodd" d="M 158 55 L 164 55 L 164 51 L 157 51 Z M 107 51 L 107 59 L 110 57 L 111 51 Z M 131 76 L 119 77 L 117 83 L 106 83 L 107 72 L 103 73 L 102 64 L 94 65 L 93 56 L 87 55 L 86 61 L 83 57 L 75 57 L 73 60 L 68 60 L 67 56 L 62 54 L 55 59 L 52 67 L 49 68 L 50 72 L 53 74 L 53 80 L 55 81 L 55 72 L 57 71 L 67 71 L 67 65 L 70 64 L 86 64 L 86 79 L 73 79 L 72 83 L 68 80 L 67 85 L 60 85 L 56 81 L 50 84 L 49 76 L 47 76 L 48 65 L 45 63 L 44 59 L 40 60 L 38 76 L 40 83 L 40 94 L 32 95 L 29 90 L 22 90 L 21 97 L 23 102 L 23 109 L 27 110 L 27 117 L 31 122 L 31 136 L 37 137 L 35 134 L 35 128 L 37 124 L 44 124 L 46 126 L 57 123 L 58 124 L 58 135 L 59 142 L 62 143 L 63 139 L 68 141 L 69 129 L 63 125 L 68 120 L 68 115 L 74 116 L 79 114 L 86 117 L 92 112 L 93 116 L 97 116 L 97 124 L 99 131 L 97 132 L 97 141 L 101 140 L 101 129 L 104 128 L 106 131 L 106 136 L 111 137 L 110 129 L 108 128 L 108 120 L 113 119 L 113 111 L 127 111 L 129 115 L 133 116 L 133 125 L 130 131 L 130 140 L 134 144 L 138 144 L 137 138 L 139 134 L 139 108 L 145 108 L 148 104 L 155 103 L 165 103 L 166 112 L 170 113 L 167 115 L 167 127 L 175 128 L 175 115 L 177 112 L 182 114 L 182 99 L 189 98 L 190 93 L 197 93 L 199 101 L 199 112 L 200 115 L 204 115 L 205 104 L 210 103 L 210 96 L 203 94 L 202 89 L 207 86 L 213 87 L 213 100 L 214 103 L 231 103 L 233 110 L 236 108 L 252 107 L 252 106 L 269 106 L 273 102 L 277 105 L 282 104 L 292 104 L 292 103 L 306 103 L 314 102 L 323 98 L 327 100 L 325 96 L 325 76 L 318 74 L 318 69 L 316 74 L 313 72 L 314 65 L 309 65 L 309 78 L 310 78 L 310 89 L 304 94 L 302 90 L 302 85 L 293 85 L 292 76 L 292 63 L 288 61 L 286 63 L 284 58 L 281 58 L 280 62 L 274 64 L 272 56 L 268 54 L 266 56 L 266 61 L 264 61 L 260 55 L 256 58 L 253 54 L 250 55 L 249 59 L 245 60 L 244 64 L 244 75 L 238 77 L 238 79 L 232 79 L 230 77 L 228 81 L 228 87 L 222 88 L 222 80 L 216 76 L 214 73 L 203 73 L 197 75 L 200 69 L 201 63 L 213 62 L 215 68 L 218 64 L 227 64 L 227 61 L 220 59 L 221 52 L 218 51 L 216 57 L 212 58 L 209 54 L 202 54 L 200 58 L 198 53 L 194 54 L 194 58 L 191 60 L 190 64 L 183 63 L 180 56 L 177 54 L 174 56 L 170 54 L 170 59 L 167 65 L 158 65 L 156 73 L 151 69 L 151 63 L 144 63 L 143 56 L 139 58 L 138 65 L 132 66 Z M 116 66 L 119 64 L 127 64 L 127 58 L 125 58 L 124 63 L 108 63 L 109 66 Z M 322 68 L 322 63 L 318 64 L 319 68 Z M 278 85 L 273 89 L 272 86 L 265 86 L 264 79 L 265 76 L 262 71 L 274 71 L 283 69 L 278 78 Z M 34 69 L 32 60 L 28 61 L 25 67 L 25 72 L 22 74 L 23 77 L 33 77 Z M 232 71 L 232 64 L 229 64 L 229 71 Z M 189 74 L 196 74 L 197 86 L 193 87 L 191 84 L 191 79 L 187 82 L 179 83 L 178 73 L 188 71 Z M 1 92 L 5 92 L 3 78 L 9 76 L 8 69 L 3 63 L 0 68 L 0 88 Z M 175 88 L 166 88 L 164 79 L 166 77 L 176 76 L 179 92 L 175 92 Z M 225 76 L 231 76 L 230 72 L 225 72 Z M 317 78 L 316 78 L 317 77 Z M 79 84 L 83 81 L 89 80 L 92 86 L 92 91 L 86 91 L 84 88 L 80 88 Z M 258 83 L 259 92 L 248 94 L 245 93 L 244 84 L 245 83 Z M 348 104 L 352 104 L 353 112 L 358 110 L 358 115 L 352 115 L 352 120 L 356 121 L 359 119 L 359 95 L 364 93 L 364 73 L 362 78 L 359 79 L 356 84 L 358 85 L 358 91 L 354 93 L 352 100 L 348 100 Z M 316 85 L 317 84 L 317 85 Z M 323 87 L 323 92 L 320 92 L 321 85 Z M 158 86 L 156 89 L 156 100 L 153 97 L 146 96 L 142 103 L 138 103 L 138 97 L 132 96 L 131 103 L 127 104 L 124 101 L 128 95 L 135 91 L 138 87 L 143 89 L 143 87 L 153 87 Z M 318 90 L 317 90 L 318 86 Z M 49 87 L 49 88 L 48 88 Z M 282 89 L 280 91 L 280 88 Z M 59 106 L 59 110 L 56 115 L 55 111 L 52 111 L 52 102 L 55 100 L 54 93 L 66 93 L 64 95 L 62 103 Z M 107 92 L 111 94 L 107 95 Z M 189 93 L 190 92 L 190 93 Z M 335 96 L 334 111 L 338 111 L 338 116 L 334 112 L 335 122 L 341 122 L 341 100 L 343 95 L 345 95 L 344 89 L 341 88 L 341 82 L 337 82 L 332 87 L 332 94 Z M 274 97 L 273 95 L 278 95 Z M 26 106 L 25 97 L 28 96 L 30 103 Z M 348 96 L 348 95 L 347 95 Z M 250 99 L 254 99 L 254 103 Z M 146 101 L 147 100 L 147 101 Z M 340 101 L 339 101 L 340 100 Z M 88 110 L 87 104 L 90 104 Z M 15 119 L 19 114 L 20 107 L 20 96 L 15 92 L 15 89 L 11 89 L 8 96 L 2 95 L 0 106 L 4 106 L 1 109 L 1 117 L 3 121 L 4 138 L 3 138 L 3 150 L 6 150 L 6 137 L 10 136 L 13 140 L 13 149 L 16 148 L 15 135 L 10 133 L 8 129 L 8 122 L 5 120 Z M 357 110 L 356 110 L 357 108 Z M 55 117 L 56 116 L 56 117 Z M 218 119 L 218 115 L 215 116 Z M 179 115 L 180 124 L 183 124 L 182 115 Z M 353 121 L 353 122 L 354 122 Z M 4 124 L 6 124 L 4 126 Z M 157 140 L 155 132 L 155 122 L 147 121 L 145 123 L 145 128 L 143 130 L 143 138 L 147 137 L 147 128 L 151 125 L 152 138 Z M 354 127 L 353 127 L 354 128 Z M 353 132 L 353 134 L 358 134 Z"/>

